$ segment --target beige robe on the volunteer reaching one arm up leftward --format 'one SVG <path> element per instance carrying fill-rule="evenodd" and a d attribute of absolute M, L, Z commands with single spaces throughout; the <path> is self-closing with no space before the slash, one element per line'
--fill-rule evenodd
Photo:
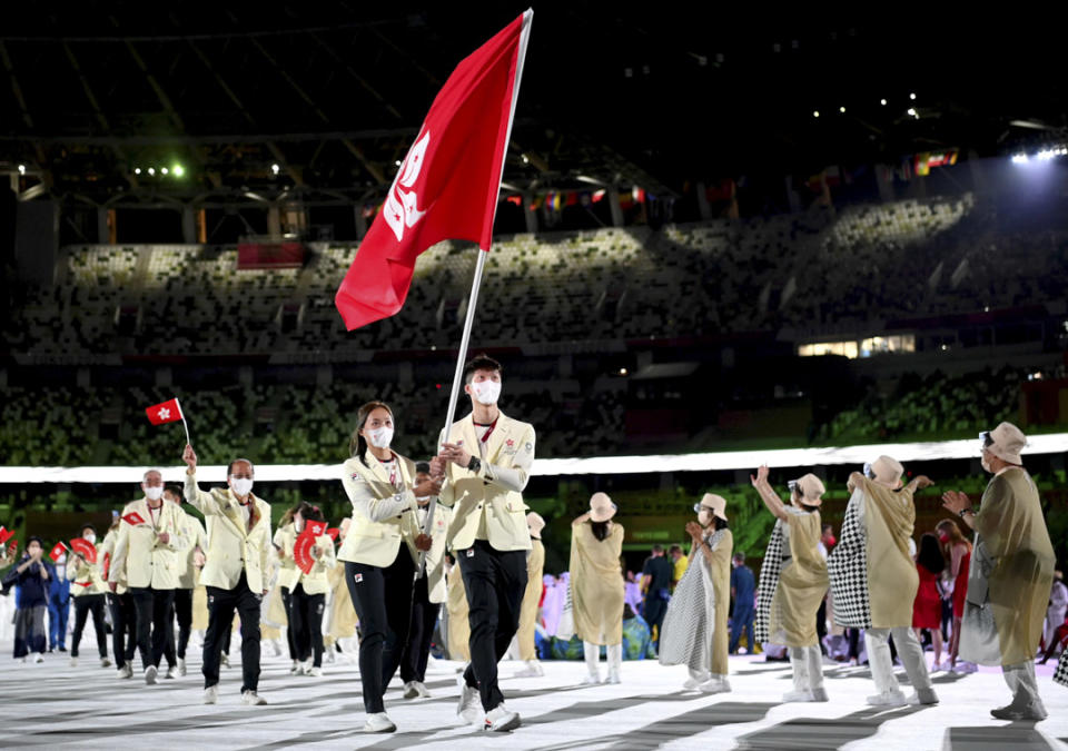
<path fill-rule="evenodd" d="M 772 641 L 787 646 L 814 646 L 818 643 L 815 614 L 827 594 L 830 580 L 827 562 L 820 554 L 820 513 L 787 513 L 790 525 L 790 561 L 779 572 L 779 584 L 771 599 L 769 628 Z"/>

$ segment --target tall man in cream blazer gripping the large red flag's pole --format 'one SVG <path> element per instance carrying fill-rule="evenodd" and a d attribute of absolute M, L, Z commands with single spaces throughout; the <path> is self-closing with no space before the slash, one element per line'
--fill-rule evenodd
<path fill-rule="evenodd" d="M 471 664 L 457 714 L 465 722 L 505 731 L 518 727 L 520 715 L 504 706 L 497 661 L 518 629 L 526 591 L 531 533 L 523 490 L 534 463 L 534 427 L 497 408 L 500 363 L 478 355 L 464 377 L 472 413 L 453 424 L 432 463 L 445 472 L 441 502 L 453 508 L 449 547 L 471 611 Z"/>

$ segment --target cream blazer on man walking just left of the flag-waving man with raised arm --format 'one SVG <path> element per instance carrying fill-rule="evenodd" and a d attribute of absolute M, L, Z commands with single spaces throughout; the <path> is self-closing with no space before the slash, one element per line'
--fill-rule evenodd
<path fill-rule="evenodd" d="M 130 524 L 122 520 L 111 556 L 109 582 L 126 576 L 130 589 L 150 586 L 154 590 L 174 590 L 178 586 L 178 559 L 188 546 L 186 512 L 174 503 L 161 502 L 155 515 L 148 511 L 148 498 L 126 504 L 122 516 L 137 512 L 145 520 Z M 166 543 L 159 535 L 167 533 Z"/>

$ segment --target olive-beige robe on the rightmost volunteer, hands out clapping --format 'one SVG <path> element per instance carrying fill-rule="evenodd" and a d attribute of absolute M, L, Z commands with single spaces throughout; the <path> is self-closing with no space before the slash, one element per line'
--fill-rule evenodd
<path fill-rule="evenodd" d="M 1054 584 L 1054 547 L 1038 488 L 1022 467 L 995 476 L 975 518 L 993 571 L 987 577 L 1001 664 L 1035 659 Z"/>

